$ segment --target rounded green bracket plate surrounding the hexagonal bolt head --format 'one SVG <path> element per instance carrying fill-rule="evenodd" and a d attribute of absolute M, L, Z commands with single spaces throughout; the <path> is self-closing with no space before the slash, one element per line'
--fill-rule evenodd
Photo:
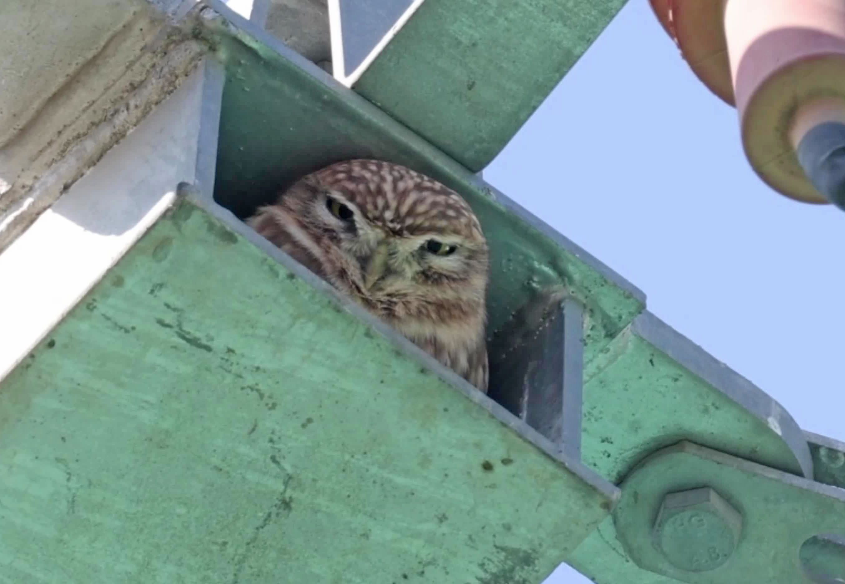
<path fill-rule="evenodd" d="M 742 514 L 739 545 L 714 570 L 681 570 L 651 542 L 651 524 L 667 493 L 710 487 Z M 680 442 L 646 458 L 622 484 L 623 495 L 613 511 L 619 541 L 637 565 L 690 584 L 806 581 L 799 551 L 820 534 L 845 537 L 845 491 L 781 473 L 754 462 Z M 679 532 L 690 546 L 695 531 Z M 716 552 L 717 542 L 710 542 Z M 817 545 L 804 549 L 804 558 L 832 557 Z M 832 549 L 836 550 L 836 546 Z M 836 553 L 836 552 L 834 552 Z M 842 557 L 842 549 L 838 550 Z M 816 564 L 816 568 L 823 563 Z M 827 564 L 831 565 L 831 564 Z M 845 576 L 845 565 L 824 576 Z"/>

